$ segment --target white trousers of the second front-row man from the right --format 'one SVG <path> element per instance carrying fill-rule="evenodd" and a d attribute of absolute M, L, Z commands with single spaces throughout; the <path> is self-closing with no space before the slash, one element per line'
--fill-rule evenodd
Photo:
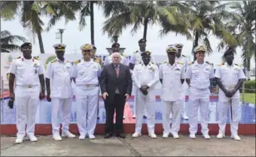
<path fill-rule="evenodd" d="M 209 89 L 199 90 L 190 87 L 190 115 L 189 115 L 189 131 L 190 134 L 197 133 L 198 110 L 200 110 L 200 124 L 202 134 L 208 134 L 209 122 Z"/>

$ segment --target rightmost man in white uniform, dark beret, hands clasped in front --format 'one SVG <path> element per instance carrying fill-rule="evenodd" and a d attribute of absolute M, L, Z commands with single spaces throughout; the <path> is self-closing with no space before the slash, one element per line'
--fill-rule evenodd
<path fill-rule="evenodd" d="M 238 135 L 239 127 L 239 88 L 242 86 L 242 82 L 245 79 L 245 74 L 242 71 L 241 65 L 233 63 L 234 59 L 233 48 L 229 48 L 224 53 L 226 63 L 219 65 L 215 71 L 216 82 L 220 87 L 218 94 L 218 126 L 219 131 L 217 138 L 223 138 L 225 136 L 225 127 L 227 122 L 227 108 L 230 107 L 230 123 L 231 123 L 231 137 L 234 140 L 241 140 Z"/>

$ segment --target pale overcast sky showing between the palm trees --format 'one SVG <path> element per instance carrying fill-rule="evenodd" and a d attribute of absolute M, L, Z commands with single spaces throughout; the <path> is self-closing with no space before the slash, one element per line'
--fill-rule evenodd
<path fill-rule="evenodd" d="M 111 47 L 111 38 L 108 38 L 108 35 L 103 35 L 102 27 L 103 23 L 106 20 L 103 16 L 103 12 L 101 8 L 94 6 L 94 29 L 95 29 L 95 44 L 97 47 L 98 54 L 108 54 L 106 50 L 107 47 Z M 42 17 L 45 27 L 47 26 L 47 17 Z M 53 26 L 49 32 L 43 32 L 42 38 L 44 43 L 44 51 L 45 53 L 54 53 L 53 44 L 60 43 L 60 39 L 56 39 L 56 32 L 58 29 L 65 29 L 62 37 L 63 44 L 66 44 L 66 53 L 81 53 L 80 47 L 83 44 L 90 44 L 90 17 L 86 18 L 87 26 L 84 27 L 84 30 L 81 32 L 78 30 L 78 17 L 75 21 L 70 21 L 69 23 L 65 23 L 65 20 L 59 20 L 55 26 Z M 123 34 L 118 38 L 118 43 L 120 47 L 125 47 L 124 54 L 131 55 L 136 50 L 139 49 L 138 41 L 143 36 L 143 26 L 137 31 L 136 34 L 132 35 L 130 30 L 132 26 L 127 27 L 126 30 L 123 30 Z M 191 49 L 193 46 L 193 41 L 187 40 L 185 36 L 175 35 L 175 33 L 169 33 L 162 38 L 160 37 L 159 31 L 160 26 L 154 25 L 148 27 L 148 35 L 147 35 L 147 50 L 151 51 L 153 55 L 164 55 L 166 56 L 166 47 L 169 44 L 181 43 L 184 44 L 182 54 L 185 56 L 191 56 Z M 32 34 L 28 32 L 26 29 L 20 24 L 19 18 L 16 18 L 12 21 L 3 21 L 1 20 L 1 31 L 8 30 L 12 35 L 20 35 L 28 39 L 28 41 L 32 42 L 32 53 L 34 55 L 40 54 L 40 48 L 38 44 L 38 38 L 35 37 L 33 40 Z M 214 35 L 209 35 L 209 41 L 212 45 L 212 54 L 206 56 L 206 61 L 212 62 L 215 65 L 221 63 L 221 56 L 224 52 L 218 52 L 217 46 L 219 44 L 219 40 L 214 37 Z M 17 43 L 21 44 L 21 43 Z M 235 56 L 234 62 L 237 64 L 242 63 L 241 58 L 241 48 L 238 48 L 237 54 Z M 166 56 L 167 57 L 167 56 Z M 254 61 L 251 62 L 251 66 L 255 67 Z"/>

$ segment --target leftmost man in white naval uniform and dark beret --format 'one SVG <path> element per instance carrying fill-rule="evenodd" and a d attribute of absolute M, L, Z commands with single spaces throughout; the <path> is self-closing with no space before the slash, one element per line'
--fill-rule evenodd
<path fill-rule="evenodd" d="M 20 48 L 23 56 L 14 59 L 9 69 L 10 98 L 15 101 L 17 112 L 18 132 L 15 143 L 22 143 L 25 134 L 31 141 L 38 140 L 35 137 L 35 113 L 38 109 L 39 99 L 44 98 L 45 90 L 44 68 L 37 57 L 31 56 L 32 44 L 24 43 Z"/>

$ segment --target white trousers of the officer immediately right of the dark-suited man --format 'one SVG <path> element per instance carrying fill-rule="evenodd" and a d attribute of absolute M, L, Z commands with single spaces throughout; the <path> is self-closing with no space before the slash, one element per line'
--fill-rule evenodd
<path fill-rule="evenodd" d="M 148 90 L 148 95 L 143 95 L 139 89 L 136 89 L 136 132 L 142 131 L 143 111 L 147 113 L 148 133 L 154 133 L 155 120 L 155 93 L 154 89 Z"/>

